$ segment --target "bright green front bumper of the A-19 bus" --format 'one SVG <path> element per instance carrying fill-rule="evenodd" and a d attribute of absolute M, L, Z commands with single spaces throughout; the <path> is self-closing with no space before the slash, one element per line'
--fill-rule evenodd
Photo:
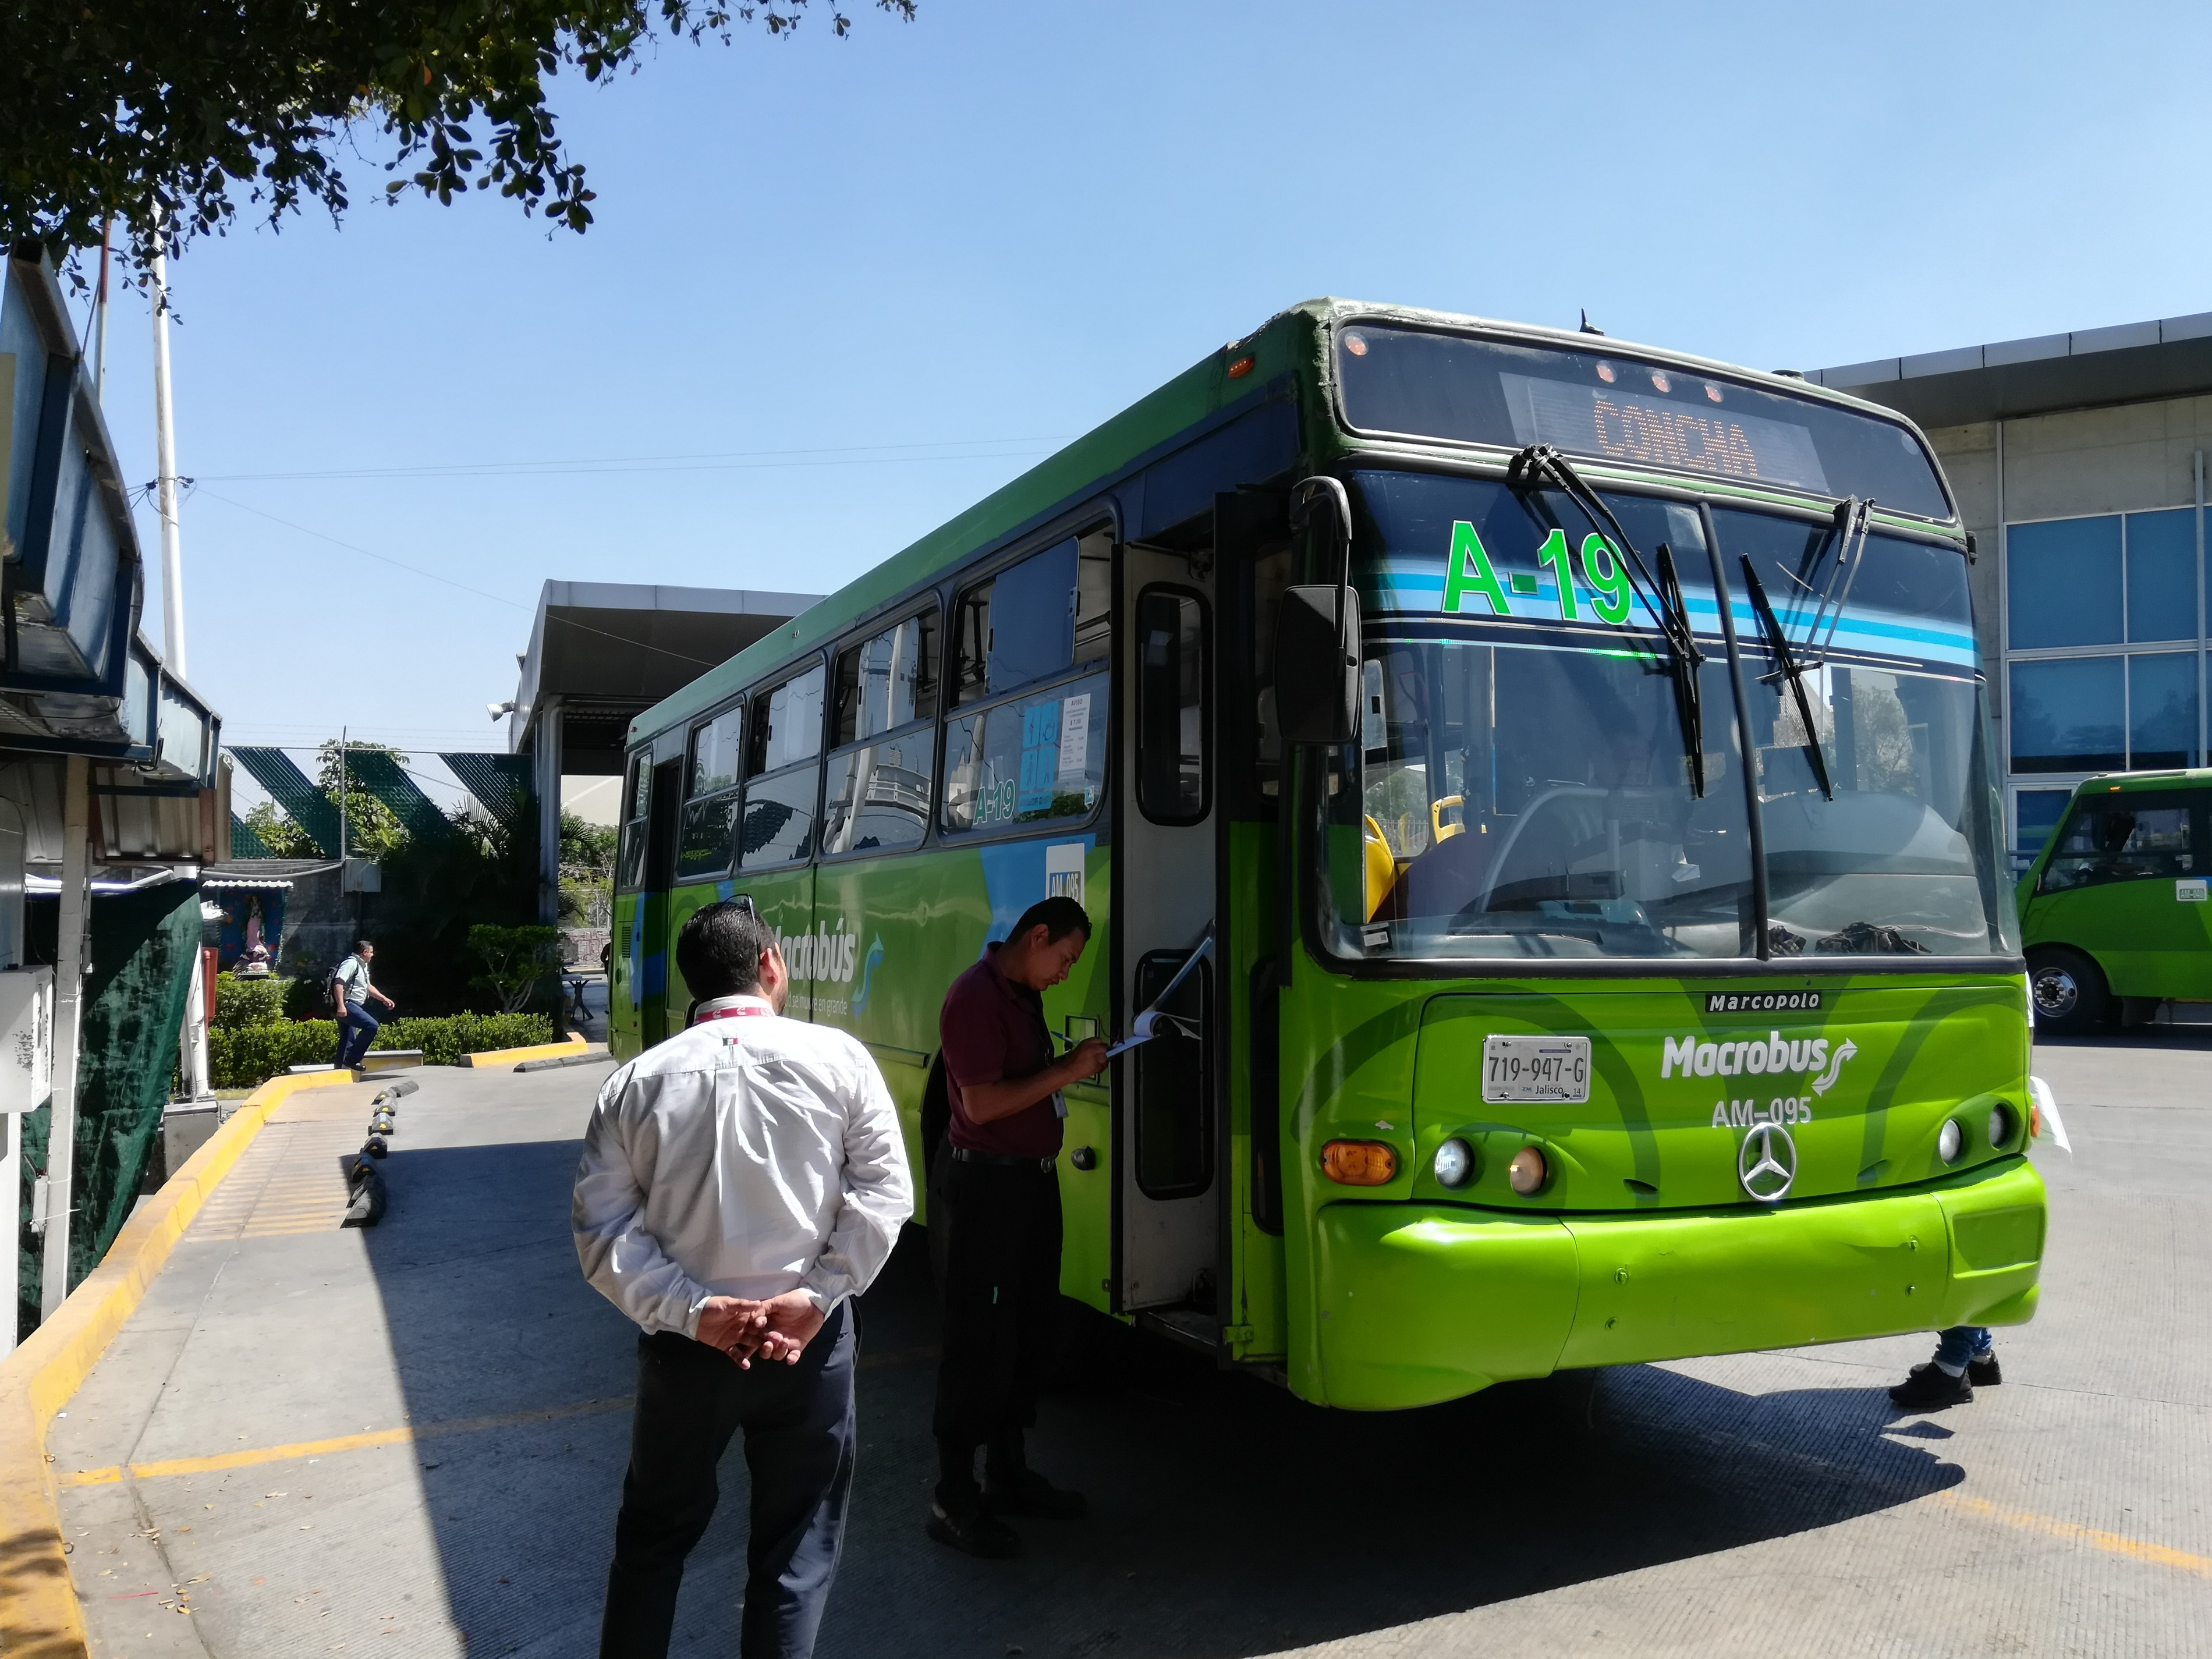
<path fill-rule="evenodd" d="M 1332 1203 L 1314 1243 L 1325 1400 L 1387 1411 L 1566 1367 L 2022 1325 L 2044 1183 L 2011 1157 L 1772 1210 Z"/>

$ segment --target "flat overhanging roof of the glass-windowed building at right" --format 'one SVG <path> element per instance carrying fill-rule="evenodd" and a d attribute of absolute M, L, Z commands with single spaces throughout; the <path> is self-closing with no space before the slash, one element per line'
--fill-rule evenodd
<path fill-rule="evenodd" d="M 2212 312 L 1885 356 L 1812 369 L 1805 378 L 1922 427 L 2188 398 L 2212 392 Z"/>

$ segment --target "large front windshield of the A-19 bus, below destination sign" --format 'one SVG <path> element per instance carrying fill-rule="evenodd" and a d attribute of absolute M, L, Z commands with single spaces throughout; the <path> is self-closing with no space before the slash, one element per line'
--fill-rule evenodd
<path fill-rule="evenodd" d="M 1338 951 L 2015 953 L 1955 546 L 1608 495 L 1646 560 L 1666 544 L 1681 571 L 1705 657 L 1699 794 L 1663 646 L 1564 498 L 1354 482 L 1365 712 L 1323 796 Z M 1820 770 L 1745 560 L 1790 641 Z"/>

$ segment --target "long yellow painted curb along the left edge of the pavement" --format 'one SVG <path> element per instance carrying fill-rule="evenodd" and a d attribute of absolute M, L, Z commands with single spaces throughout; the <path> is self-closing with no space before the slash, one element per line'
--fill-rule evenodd
<path fill-rule="evenodd" d="M 230 1115 L 117 1234 L 53 1318 L 0 1358 L 0 1652 L 84 1659 L 84 1615 L 69 1582 L 46 1425 L 146 1298 L 177 1239 L 270 1113 L 303 1088 L 352 1084 L 349 1071 L 272 1077 Z"/>

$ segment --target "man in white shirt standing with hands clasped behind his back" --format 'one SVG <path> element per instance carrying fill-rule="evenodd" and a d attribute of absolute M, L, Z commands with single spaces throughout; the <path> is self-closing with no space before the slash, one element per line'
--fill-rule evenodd
<path fill-rule="evenodd" d="M 852 1296 L 914 1214 L 883 1073 L 781 1018 L 774 933 L 737 898 L 677 936 L 692 1024 L 599 1091 L 571 1225 L 584 1276 L 644 1327 L 602 1659 L 661 1659 L 684 1557 L 737 1429 L 752 1473 L 745 1659 L 805 1659 L 852 1491 Z"/>

